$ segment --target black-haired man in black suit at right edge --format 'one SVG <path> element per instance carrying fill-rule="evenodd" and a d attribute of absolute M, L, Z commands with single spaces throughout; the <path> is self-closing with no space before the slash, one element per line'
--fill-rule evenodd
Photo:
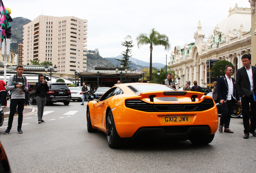
<path fill-rule="evenodd" d="M 236 87 L 240 97 L 242 97 L 242 110 L 244 121 L 244 139 L 248 139 L 250 133 L 256 137 L 256 102 L 254 100 L 254 91 L 256 90 L 256 67 L 251 65 L 251 56 L 244 54 L 242 56 L 243 67 L 236 73 Z M 251 104 L 251 123 L 249 122 L 249 111 Z"/>

